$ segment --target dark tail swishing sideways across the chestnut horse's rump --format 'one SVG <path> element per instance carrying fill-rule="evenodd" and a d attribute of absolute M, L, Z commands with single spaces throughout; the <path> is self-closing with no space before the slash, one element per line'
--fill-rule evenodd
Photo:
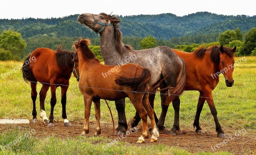
<path fill-rule="evenodd" d="M 130 86 L 134 88 L 134 91 L 144 91 L 145 88 L 151 87 L 150 85 L 151 74 L 147 69 L 143 69 L 141 74 L 137 77 L 127 78 L 124 76 L 118 76 L 116 78 L 116 84 L 121 86 Z M 149 87 L 147 87 L 149 85 Z"/>

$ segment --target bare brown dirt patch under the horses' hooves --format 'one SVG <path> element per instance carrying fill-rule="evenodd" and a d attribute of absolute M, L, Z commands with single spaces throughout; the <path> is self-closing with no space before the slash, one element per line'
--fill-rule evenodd
<path fill-rule="evenodd" d="M 71 122 L 72 127 L 64 127 L 62 121 L 54 122 L 54 124 L 55 126 L 53 128 L 48 128 L 46 124 L 39 121 L 37 125 L 30 123 L 30 128 L 36 130 L 37 137 L 51 136 L 54 134 L 56 137 L 63 138 L 76 137 L 80 135 L 84 126 L 84 122 Z M 96 130 L 96 122 L 90 122 L 89 127 L 89 136 L 93 136 Z M 115 127 L 117 127 L 117 124 L 115 124 Z M 132 133 L 130 136 L 124 137 L 121 141 L 134 145 L 164 144 L 194 153 L 198 151 L 228 151 L 234 154 L 256 153 L 256 136 L 255 133 L 250 132 L 249 130 L 244 130 L 241 131 L 240 134 L 236 134 L 234 131 L 225 129 L 225 135 L 227 138 L 218 138 L 214 131 L 204 131 L 205 134 L 196 134 L 194 129 L 181 129 L 177 136 L 170 136 L 168 133 L 160 132 L 159 139 L 155 143 L 150 143 L 151 132 L 149 131 L 149 139 L 146 139 L 145 144 L 136 144 L 136 141 L 142 134 L 142 128 L 140 125 L 137 129 L 138 131 L 136 133 Z M 117 135 L 112 135 L 112 131 L 113 124 L 101 123 L 101 136 L 112 138 L 113 140 L 118 138 Z"/>

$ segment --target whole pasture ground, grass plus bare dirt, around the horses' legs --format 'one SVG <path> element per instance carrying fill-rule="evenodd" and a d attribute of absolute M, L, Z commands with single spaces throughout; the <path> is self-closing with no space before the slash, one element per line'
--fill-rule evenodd
<path fill-rule="evenodd" d="M 227 138 L 217 138 L 215 124 L 207 103 L 200 116 L 200 126 L 205 134 L 196 134 L 193 127 L 199 92 L 187 91 L 180 97 L 180 132 L 176 137 L 161 136 L 156 143 L 136 144 L 142 129 L 127 137 L 111 135 L 112 121 L 104 100 L 101 100 L 100 137 L 93 137 L 96 129 L 94 107 L 90 114 L 90 135 L 80 136 L 84 123 L 84 100 L 78 82 L 72 75 L 67 92 L 67 116 L 72 127 L 64 127 L 61 117 L 61 93 L 57 88 L 57 104 L 54 108 L 55 127 L 48 128 L 40 119 L 39 96 L 36 100 L 38 124 L 28 127 L 0 127 L 1 154 L 255 154 L 256 153 L 256 57 L 247 56 L 246 62 L 236 57 L 233 72 L 234 85 L 227 87 L 223 75 L 213 90 L 213 100 L 220 125 Z M 22 62 L 0 62 L 0 119 L 32 119 L 30 85 L 23 81 Z M 18 68 L 18 69 L 16 69 Z M 7 76 L 9 75 L 9 76 Z M 37 85 L 37 92 L 41 89 Z M 39 93 L 38 93 L 39 94 Z M 50 114 L 50 91 L 45 99 L 47 116 Z M 117 127 L 117 112 L 114 101 L 108 101 Z M 154 110 L 161 114 L 160 96 L 156 95 Z M 131 122 L 135 109 L 126 98 L 126 118 Z M 172 128 L 174 110 L 172 105 L 165 119 L 167 129 Z M 149 122 L 149 119 L 148 119 Z M 128 125 L 129 126 L 129 125 Z M 27 133 L 34 134 L 26 136 Z M 35 131 L 35 132 L 34 132 Z M 168 133 L 160 133 L 168 134 Z M 135 136 L 134 136 L 135 135 Z M 151 136 L 151 131 L 149 135 Z M 12 143 L 13 142 L 13 143 Z M 10 148 L 5 148 L 7 144 Z"/>

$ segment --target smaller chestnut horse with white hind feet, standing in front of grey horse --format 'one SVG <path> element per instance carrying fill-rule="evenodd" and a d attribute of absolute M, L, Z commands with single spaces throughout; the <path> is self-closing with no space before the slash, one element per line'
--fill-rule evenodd
<path fill-rule="evenodd" d="M 81 135 L 89 133 L 92 101 L 94 102 L 97 121 L 94 135 L 99 136 L 101 133 L 100 99 L 120 100 L 128 97 L 142 118 L 143 133 L 137 143 L 143 143 L 144 138 L 148 138 L 148 116 L 153 133 L 151 142 L 155 142 L 159 133 L 154 119 L 154 110 L 148 102 L 148 93 L 142 93 L 149 89 L 150 72 L 132 63 L 119 66 L 103 65 L 88 48 L 88 44 L 90 44 L 89 40 L 79 38 L 74 45 L 79 59 L 79 89 L 84 95 L 84 129 Z M 108 75 L 104 76 L 102 73 L 108 73 Z"/>

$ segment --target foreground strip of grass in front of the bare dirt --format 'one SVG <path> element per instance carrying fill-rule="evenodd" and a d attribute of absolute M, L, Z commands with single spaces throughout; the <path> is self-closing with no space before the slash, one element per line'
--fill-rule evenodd
<path fill-rule="evenodd" d="M 25 137 L 29 130 L 8 128 L 0 134 L 0 154 L 198 154 L 211 155 L 213 153 L 199 152 L 190 153 L 177 147 L 169 147 L 163 144 L 158 145 L 133 145 L 126 142 L 117 142 L 114 145 L 111 139 L 104 137 L 82 137 L 58 138 L 54 136 L 36 138 L 33 135 Z M 3 146 L 15 142 L 11 148 L 4 149 Z M 215 154 L 230 154 L 228 152 L 217 152 Z"/>

